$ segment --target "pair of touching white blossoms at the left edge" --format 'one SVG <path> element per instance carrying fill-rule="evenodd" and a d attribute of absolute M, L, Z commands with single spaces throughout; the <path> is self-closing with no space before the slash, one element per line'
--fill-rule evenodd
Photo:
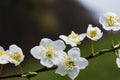
<path fill-rule="evenodd" d="M 0 46 L 0 64 L 12 63 L 18 66 L 24 60 L 22 49 L 17 45 L 10 45 L 8 50 Z"/>

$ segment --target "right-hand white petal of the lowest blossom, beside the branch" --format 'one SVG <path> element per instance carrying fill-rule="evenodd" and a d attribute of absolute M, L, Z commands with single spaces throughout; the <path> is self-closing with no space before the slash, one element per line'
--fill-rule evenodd
<path fill-rule="evenodd" d="M 88 66 L 88 60 L 85 58 L 79 58 L 75 60 L 75 64 L 79 67 L 79 69 L 85 69 L 86 66 Z"/>

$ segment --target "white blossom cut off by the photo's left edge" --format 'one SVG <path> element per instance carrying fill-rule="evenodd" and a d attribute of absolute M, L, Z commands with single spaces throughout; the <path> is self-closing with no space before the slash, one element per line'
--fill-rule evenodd
<path fill-rule="evenodd" d="M 0 46 L 0 64 L 9 63 L 9 53 Z"/>

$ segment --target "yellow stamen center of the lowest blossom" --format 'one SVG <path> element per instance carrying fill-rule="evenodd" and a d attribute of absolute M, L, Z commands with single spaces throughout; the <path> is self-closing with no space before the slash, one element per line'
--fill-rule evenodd
<path fill-rule="evenodd" d="M 71 71 L 75 66 L 75 63 L 71 58 L 68 58 L 63 64 L 64 64 L 63 69 L 66 71 Z"/>

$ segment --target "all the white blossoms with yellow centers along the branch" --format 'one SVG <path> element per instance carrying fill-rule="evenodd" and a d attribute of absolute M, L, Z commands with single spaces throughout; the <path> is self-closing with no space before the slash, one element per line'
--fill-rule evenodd
<path fill-rule="evenodd" d="M 115 13 L 105 13 L 100 16 L 100 24 L 103 29 L 107 31 L 120 30 L 120 17 Z M 43 38 L 38 46 L 30 50 L 31 55 L 40 60 L 40 64 L 47 68 L 57 66 L 55 73 L 65 76 L 68 74 L 70 79 L 74 80 L 80 70 L 85 69 L 89 62 L 87 59 L 81 57 L 80 48 L 78 45 L 85 39 L 89 38 L 92 41 L 98 41 L 103 36 L 103 32 L 91 24 L 85 33 L 71 32 L 69 35 L 60 35 L 59 40 L 51 40 Z M 66 52 L 67 45 L 71 48 Z M 17 45 L 11 45 L 8 50 L 0 47 L 0 64 L 13 63 L 18 66 L 24 60 L 22 49 Z M 120 68 L 120 50 L 118 50 L 118 57 L 116 58 L 117 66 Z"/>

